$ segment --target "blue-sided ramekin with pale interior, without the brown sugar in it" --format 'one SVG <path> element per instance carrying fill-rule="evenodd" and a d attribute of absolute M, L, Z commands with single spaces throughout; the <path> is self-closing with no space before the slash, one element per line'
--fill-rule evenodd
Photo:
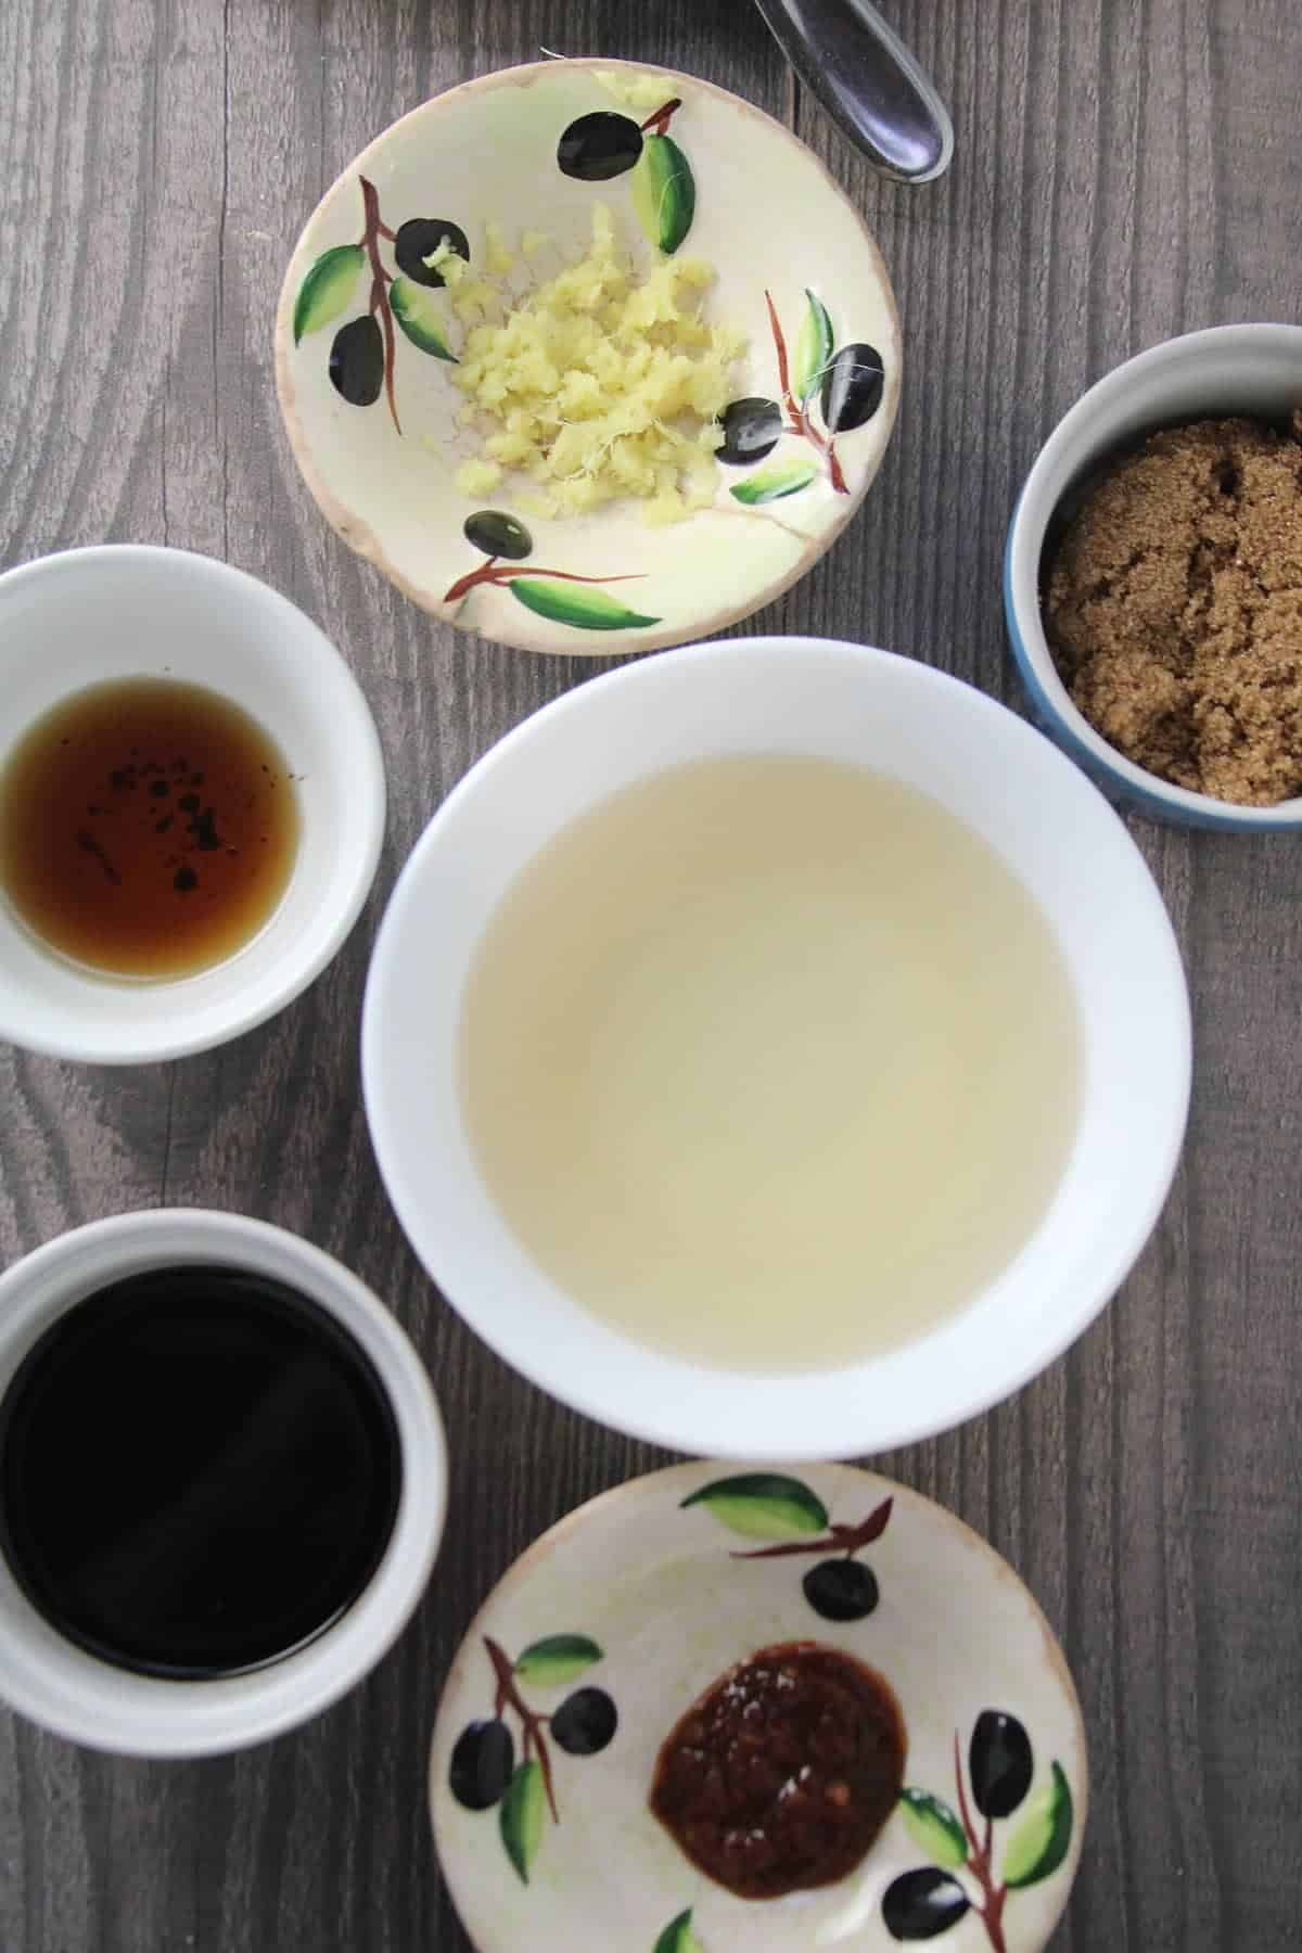
<path fill-rule="evenodd" d="M 1173 787 L 1095 732 L 1062 684 L 1040 611 L 1040 562 L 1064 494 L 1115 449 L 1181 420 L 1247 414 L 1277 424 L 1302 408 L 1302 326 L 1210 326 L 1154 346 L 1115 367 L 1066 414 L 1037 455 L 1013 512 L 1003 561 L 1003 607 L 1031 707 L 1120 807 L 1187 828 L 1261 834 L 1302 828 L 1302 799 L 1230 807 Z"/>

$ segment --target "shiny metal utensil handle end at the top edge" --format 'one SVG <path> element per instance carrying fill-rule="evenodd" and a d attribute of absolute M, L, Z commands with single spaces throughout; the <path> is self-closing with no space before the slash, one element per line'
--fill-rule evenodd
<path fill-rule="evenodd" d="M 755 0 L 800 80 L 869 162 L 929 184 L 955 152 L 949 109 L 869 0 Z"/>

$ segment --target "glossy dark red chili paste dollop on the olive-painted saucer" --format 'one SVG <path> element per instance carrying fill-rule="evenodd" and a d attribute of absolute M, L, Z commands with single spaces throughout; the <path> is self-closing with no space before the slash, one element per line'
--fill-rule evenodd
<path fill-rule="evenodd" d="M 666 1738 L 650 1807 L 709 1879 L 781 1898 L 845 1879 L 900 1797 L 892 1687 L 851 1654 L 787 1641 L 738 1662 Z"/>

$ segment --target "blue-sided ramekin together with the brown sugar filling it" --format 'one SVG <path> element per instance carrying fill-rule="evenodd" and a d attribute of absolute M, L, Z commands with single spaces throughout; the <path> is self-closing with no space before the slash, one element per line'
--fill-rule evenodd
<path fill-rule="evenodd" d="M 1042 728 L 1124 807 L 1302 826 L 1302 328 L 1167 340 L 1040 449 L 1005 555 Z"/>

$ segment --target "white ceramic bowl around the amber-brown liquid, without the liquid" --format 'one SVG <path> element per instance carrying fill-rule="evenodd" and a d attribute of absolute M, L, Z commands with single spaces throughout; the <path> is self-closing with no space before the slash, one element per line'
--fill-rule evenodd
<path fill-rule="evenodd" d="M 0 896 L 0 1037 L 98 1064 L 176 1059 L 271 1018 L 336 955 L 385 836 L 385 762 L 344 658 L 287 598 L 211 557 L 105 545 L 0 576 L 0 766 L 61 699 L 176 678 L 232 699 L 297 775 L 301 838 L 279 906 L 193 976 L 115 978 L 47 949 Z"/>

